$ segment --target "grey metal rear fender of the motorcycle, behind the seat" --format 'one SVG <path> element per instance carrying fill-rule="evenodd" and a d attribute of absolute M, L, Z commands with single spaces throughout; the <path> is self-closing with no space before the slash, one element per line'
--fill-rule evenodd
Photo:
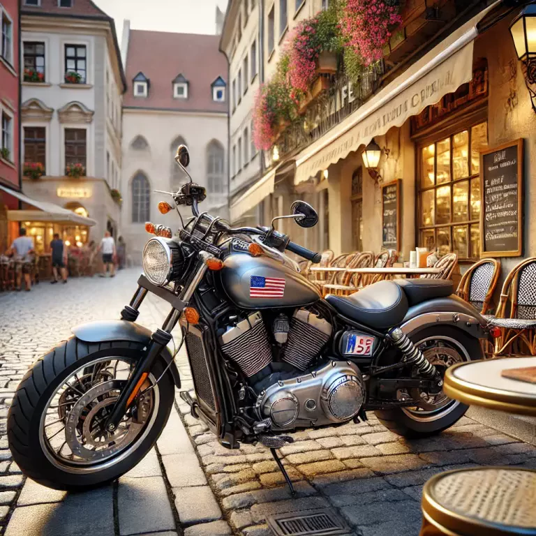
<path fill-rule="evenodd" d="M 410 334 L 435 324 L 452 325 L 475 338 L 488 338 L 487 320 L 463 299 L 452 295 L 423 301 L 408 309 L 400 329 Z"/>

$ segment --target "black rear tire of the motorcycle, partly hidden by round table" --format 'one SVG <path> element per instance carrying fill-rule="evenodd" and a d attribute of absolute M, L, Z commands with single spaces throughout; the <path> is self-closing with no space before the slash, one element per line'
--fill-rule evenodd
<path fill-rule="evenodd" d="M 438 348 L 445 345 L 445 348 L 449 348 L 451 355 L 457 353 L 463 361 L 484 359 L 478 339 L 468 336 L 466 332 L 455 327 L 428 327 L 419 332 L 413 332 L 409 338 L 419 348 L 426 348 L 429 341 L 432 341 L 432 344 L 434 340 L 438 341 Z M 431 353 L 433 353 L 433 348 Z M 468 405 L 447 399 L 447 397 L 445 399 L 444 405 L 441 405 L 435 412 L 433 405 L 430 405 L 431 410 L 428 412 L 422 411 L 422 408 L 394 408 L 376 410 L 374 413 L 389 431 L 403 435 L 405 438 L 426 438 L 450 428 L 468 410 Z"/>

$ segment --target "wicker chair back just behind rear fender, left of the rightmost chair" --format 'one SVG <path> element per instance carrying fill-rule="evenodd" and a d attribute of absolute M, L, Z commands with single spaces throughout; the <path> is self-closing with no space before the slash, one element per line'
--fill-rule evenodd
<path fill-rule="evenodd" d="M 477 308 L 480 314 L 485 315 L 489 311 L 499 276 L 499 260 L 479 260 L 463 274 L 456 295 Z"/>

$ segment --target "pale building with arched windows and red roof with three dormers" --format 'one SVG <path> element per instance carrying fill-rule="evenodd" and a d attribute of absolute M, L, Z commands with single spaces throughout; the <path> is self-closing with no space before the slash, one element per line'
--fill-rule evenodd
<path fill-rule="evenodd" d="M 190 151 L 193 181 L 207 188 L 202 210 L 227 217 L 228 66 L 218 41 L 216 35 L 130 30 L 125 23 L 121 232 L 136 264 L 147 241 L 146 221 L 177 227 L 175 212 L 161 216 L 157 209 L 170 198 L 154 190 L 177 191 L 188 181 L 174 162 L 179 144 Z M 168 61 L 155 61 L 163 57 Z M 191 216 L 188 210 L 181 212 Z"/>

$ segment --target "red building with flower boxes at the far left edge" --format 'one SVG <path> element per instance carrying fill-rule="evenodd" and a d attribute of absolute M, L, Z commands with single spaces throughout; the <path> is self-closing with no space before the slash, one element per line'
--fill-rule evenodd
<path fill-rule="evenodd" d="M 7 210 L 18 200 L 6 189 L 20 191 L 20 54 L 19 0 L 0 0 L 0 253 L 8 244 Z"/>

